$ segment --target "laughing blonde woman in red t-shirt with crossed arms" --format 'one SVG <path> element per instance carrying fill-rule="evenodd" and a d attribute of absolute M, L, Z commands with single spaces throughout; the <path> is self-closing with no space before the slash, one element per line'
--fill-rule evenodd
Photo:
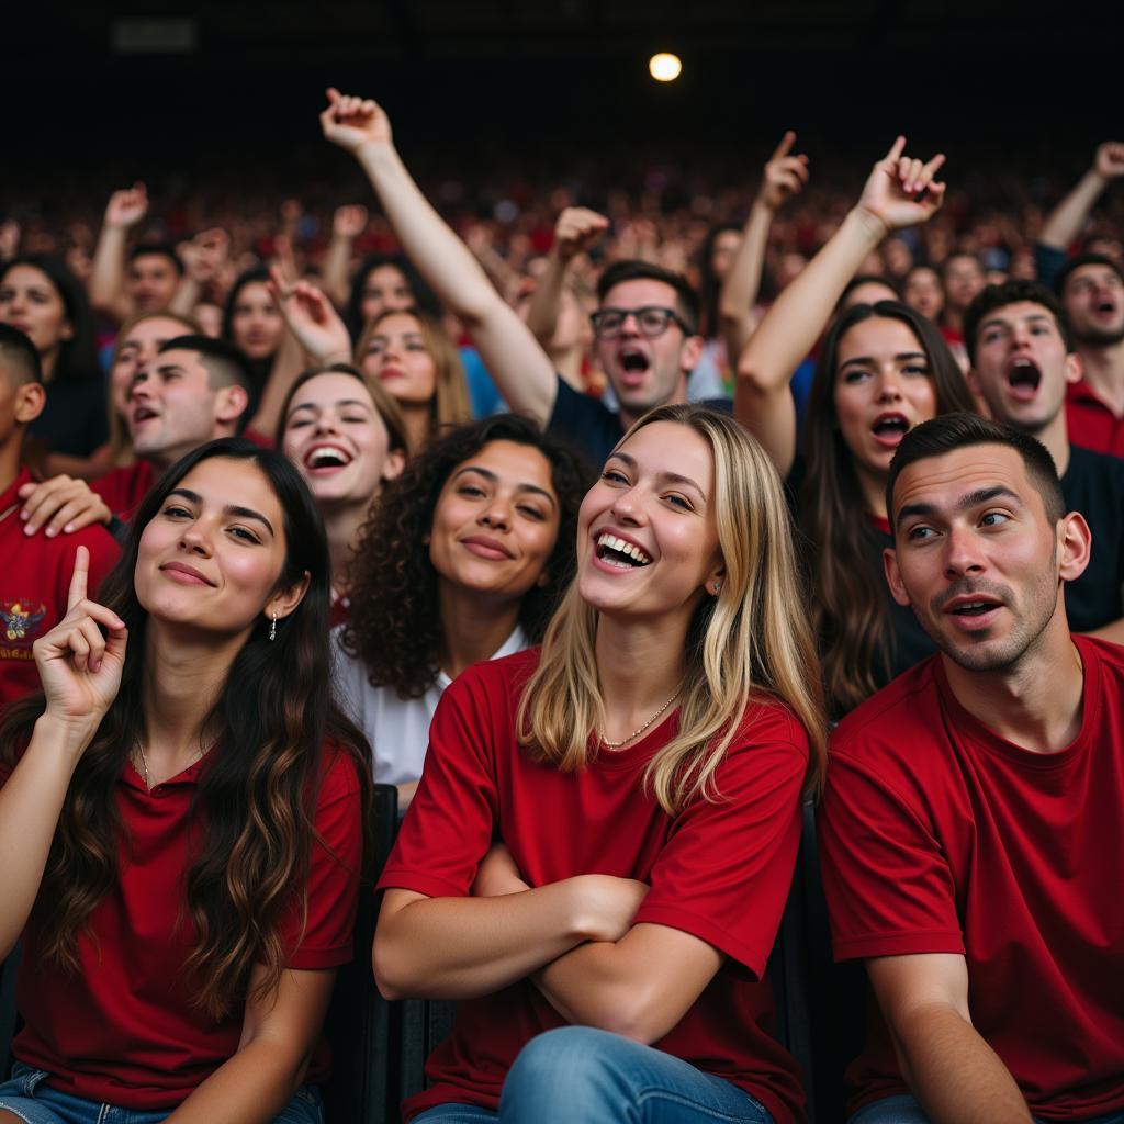
<path fill-rule="evenodd" d="M 380 990 L 459 1000 L 404 1117 L 800 1121 L 765 961 L 826 724 L 780 481 L 662 406 L 577 554 L 542 649 L 446 691 L 380 879 Z"/>

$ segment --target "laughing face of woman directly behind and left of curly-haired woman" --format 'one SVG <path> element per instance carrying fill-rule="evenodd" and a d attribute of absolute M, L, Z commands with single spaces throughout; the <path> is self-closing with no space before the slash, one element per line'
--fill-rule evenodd
<path fill-rule="evenodd" d="M 390 434 L 366 387 L 333 371 L 298 387 L 281 450 L 321 507 L 369 504 L 405 463 L 401 450 L 390 451 Z"/>

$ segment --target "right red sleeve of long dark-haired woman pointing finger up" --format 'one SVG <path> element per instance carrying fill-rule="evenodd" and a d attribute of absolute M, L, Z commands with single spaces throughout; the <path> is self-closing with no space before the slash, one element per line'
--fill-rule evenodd
<path fill-rule="evenodd" d="M 329 751 L 316 806 L 316 837 L 308 871 L 308 922 L 300 933 L 299 910 L 283 926 L 287 943 L 300 941 L 289 967 L 336 968 L 354 955 L 355 912 L 363 865 L 363 824 L 359 777 L 344 752 Z"/>

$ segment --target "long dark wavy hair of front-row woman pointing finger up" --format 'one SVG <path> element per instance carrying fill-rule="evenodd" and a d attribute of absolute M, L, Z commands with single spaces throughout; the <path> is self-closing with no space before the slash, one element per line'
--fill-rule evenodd
<path fill-rule="evenodd" d="M 284 513 L 285 561 L 278 588 L 310 575 L 308 591 L 268 640 L 264 620 L 235 656 L 205 723 L 217 738 L 185 831 L 191 842 L 185 909 L 198 940 L 184 964 L 197 1001 L 216 1018 L 245 1003 L 251 969 L 266 968 L 262 994 L 277 986 L 293 951 L 282 939 L 293 906 L 307 917 L 314 815 L 328 755 L 350 759 L 359 777 L 364 831 L 370 830 L 371 753 L 333 701 L 328 652 L 328 552 L 324 526 L 297 470 L 280 454 L 227 437 L 189 453 L 161 478 L 134 519 L 121 560 L 99 599 L 128 626 L 120 690 L 74 772 L 63 804 L 33 921 L 45 957 L 79 967 L 76 946 L 94 906 L 117 880 L 124 825 L 117 781 L 144 729 L 142 680 L 147 614 L 134 574 L 140 535 L 171 490 L 214 456 L 252 461 Z M 15 764 L 43 714 L 43 694 L 15 704 L 0 726 L 0 759 Z M 368 841 L 364 841 L 366 844 Z M 372 849 L 364 845 L 364 855 Z"/>

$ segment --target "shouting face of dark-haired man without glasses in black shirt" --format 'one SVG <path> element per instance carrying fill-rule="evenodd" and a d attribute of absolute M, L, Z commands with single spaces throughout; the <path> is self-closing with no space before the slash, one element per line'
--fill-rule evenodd
<path fill-rule="evenodd" d="M 1066 384 L 1079 377 L 1043 305 L 1021 300 L 980 319 L 969 381 L 998 420 L 1040 433 L 1061 417 Z"/>

